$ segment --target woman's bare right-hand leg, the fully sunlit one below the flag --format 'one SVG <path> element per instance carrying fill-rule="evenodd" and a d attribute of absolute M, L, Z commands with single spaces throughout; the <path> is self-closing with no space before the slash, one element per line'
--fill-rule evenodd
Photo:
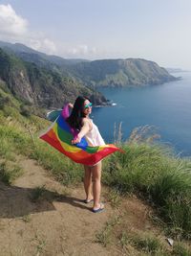
<path fill-rule="evenodd" d="M 96 166 L 92 166 L 92 175 L 93 175 L 93 195 L 94 195 L 94 208 L 100 208 L 100 194 L 101 194 L 101 162 Z"/>

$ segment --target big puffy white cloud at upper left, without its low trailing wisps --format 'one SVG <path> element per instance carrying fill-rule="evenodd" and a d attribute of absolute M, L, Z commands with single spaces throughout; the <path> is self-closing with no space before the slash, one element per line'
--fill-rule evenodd
<path fill-rule="evenodd" d="M 28 20 L 19 16 L 9 4 L 0 5 L 0 39 L 24 43 L 47 54 L 55 54 L 57 51 L 53 40 L 42 33 L 30 31 Z"/>

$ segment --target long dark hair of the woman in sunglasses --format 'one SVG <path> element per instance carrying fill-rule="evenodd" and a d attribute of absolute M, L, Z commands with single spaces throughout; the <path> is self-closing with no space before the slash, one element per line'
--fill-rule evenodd
<path fill-rule="evenodd" d="M 82 128 L 82 118 L 85 117 L 83 113 L 84 102 L 86 100 L 89 100 L 89 99 L 83 96 L 78 96 L 77 99 L 75 100 L 72 113 L 66 120 L 72 128 L 76 128 L 76 129 Z"/>

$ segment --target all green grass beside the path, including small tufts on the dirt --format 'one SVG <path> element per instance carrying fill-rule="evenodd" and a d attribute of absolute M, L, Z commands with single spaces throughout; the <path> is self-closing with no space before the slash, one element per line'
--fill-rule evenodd
<path fill-rule="evenodd" d="M 21 115 L 23 103 L 0 87 L 0 99 L 3 102 L 6 98 L 7 104 L 2 104 L 0 109 L 1 181 L 11 184 L 22 174 L 16 164 L 21 154 L 36 159 L 62 184 L 80 182 L 82 167 L 38 139 L 39 132 L 47 128 L 49 122 L 32 113 Z M 96 234 L 96 242 L 104 246 L 111 244 L 114 228 L 120 226 L 116 239 L 124 250 L 131 246 L 142 255 L 190 255 L 189 245 L 182 241 L 191 237 L 191 160 L 154 143 L 158 135 L 146 135 L 148 132 L 149 127 L 137 128 L 128 141 L 121 143 L 118 130 L 116 141 L 124 153 L 116 152 L 103 161 L 103 183 L 111 189 L 108 199 L 114 207 L 118 207 L 121 196 L 126 195 L 137 195 L 150 204 L 155 214 L 153 220 L 158 220 L 165 234 L 179 243 L 169 252 L 158 237 L 127 232 L 124 219 L 118 216 Z M 44 198 L 45 193 L 44 187 L 37 187 L 32 200 Z"/>

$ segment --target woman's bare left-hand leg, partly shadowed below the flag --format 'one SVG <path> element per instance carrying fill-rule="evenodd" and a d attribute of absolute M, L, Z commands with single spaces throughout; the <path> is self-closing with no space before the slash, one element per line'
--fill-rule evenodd
<path fill-rule="evenodd" d="M 92 170 L 91 167 L 84 165 L 84 190 L 86 193 L 86 200 L 92 200 Z"/>

